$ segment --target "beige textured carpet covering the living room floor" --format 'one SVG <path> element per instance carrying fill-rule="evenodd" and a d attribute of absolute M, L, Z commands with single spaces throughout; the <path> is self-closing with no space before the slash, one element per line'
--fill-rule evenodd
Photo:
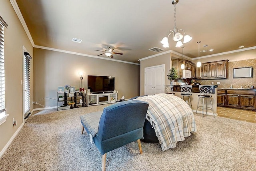
<path fill-rule="evenodd" d="M 79 116 L 106 105 L 31 115 L 0 159 L 1 171 L 98 171 L 101 155 L 81 135 Z M 176 148 L 132 142 L 107 154 L 107 171 L 253 171 L 256 170 L 256 124 L 195 115 L 198 132 Z"/>

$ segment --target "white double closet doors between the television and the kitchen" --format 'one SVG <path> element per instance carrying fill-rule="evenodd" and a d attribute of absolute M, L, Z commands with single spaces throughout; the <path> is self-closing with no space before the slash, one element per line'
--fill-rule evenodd
<path fill-rule="evenodd" d="M 145 68 L 144 95 L 164 93 L 164 68 L 165 65 Z"/>

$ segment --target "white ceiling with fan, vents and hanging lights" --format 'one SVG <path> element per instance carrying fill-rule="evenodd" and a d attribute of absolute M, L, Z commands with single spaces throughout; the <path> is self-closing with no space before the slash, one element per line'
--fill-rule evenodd
<path fill-rule="evenodd" d="M 169 38 L 170 48 L 160 41 L 174 28 L 171 0 L 16 0 L 36 46 L 90 56 L 94 50 L 114 48 L 116 60 L 137 63 L 158 53 L 158 47 L 182 53 Z M 184 44 L 184 55 L 200 57 L 256 46 L 256 0 L 180 0 L 176 26 L 193 39 Z M 72 42 L 72 38 L 82 42 Z M 208 47 L 204 48 L 203 45 Z M 210 52 L 210 49 L 214 51 Z M 100 57 L 109 58 L 105 55 Z"/>

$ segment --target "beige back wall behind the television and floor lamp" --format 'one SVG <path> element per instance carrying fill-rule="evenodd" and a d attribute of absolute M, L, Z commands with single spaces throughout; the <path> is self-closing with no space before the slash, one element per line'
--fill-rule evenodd
<path fill-rule="evenodd" d="M 82 87 L 87 89 L 87 75 L 114 76 L 118 99 L 140 94 L 140 66 L 34 48 L 34 101 L 57 106 L 57 88 L 70 84 L 80 87 L 79 71 L 85 72 Z M 49 97 L 49 98 L 48 98 Z M 50 99 L 52 98 L 52 99 Z M 34 108 L 41 107 L 34 105 Z"/>

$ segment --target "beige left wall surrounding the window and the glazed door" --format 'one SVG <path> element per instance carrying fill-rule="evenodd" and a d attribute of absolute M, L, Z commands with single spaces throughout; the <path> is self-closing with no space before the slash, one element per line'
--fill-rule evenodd
<path fill-rule="evenodd" d="M 8 24 L 4 28 L 4 64 L 5 64 L 5 104 L 6 122 L 0 125 L 0 151 L 23 123 L 22 109 L 22 45 L 33 58 L 33 48 L 18 16 L 9 0 L 2 0 L 0 16 Z M 31 61 L 31 76 L 33 78 L 33 60 Z M 33 79 L 31 79 L 31 101 L 33 100 Z M 32 106 L 32 105 L 31 105 Z M 32 106 L 33 107 L 33 106 Z M 12 118 L 17 120 L 17 126 L 12 125 Z"/>

